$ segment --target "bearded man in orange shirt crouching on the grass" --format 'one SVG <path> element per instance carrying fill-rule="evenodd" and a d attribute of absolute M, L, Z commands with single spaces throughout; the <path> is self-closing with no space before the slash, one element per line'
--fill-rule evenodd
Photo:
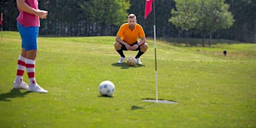
<path fill-rule="evenodd" d="M 140 37 L 140 41 L 139 41 Z M 115 49 L 121 58 L 118 63 L 125 61 L 123 50 L 139 51 L 135 56 L 137 64 L 142 65 L 140 56 L 147 51 L 146 36 L 143 28 L 137 23 L 135 14 L 129 14 L 127 23 L 122 24 L 116 34 Z"/>

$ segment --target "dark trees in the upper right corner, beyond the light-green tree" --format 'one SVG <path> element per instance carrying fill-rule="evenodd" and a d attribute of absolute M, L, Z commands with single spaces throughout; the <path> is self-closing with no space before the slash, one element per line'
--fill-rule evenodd
<path fill-rule="evenodd" d="M 218 32 L 223 38 L 256 43 L 256 1 L 225 0 L 230 4 L 235 22 L 227 31 Z"/>

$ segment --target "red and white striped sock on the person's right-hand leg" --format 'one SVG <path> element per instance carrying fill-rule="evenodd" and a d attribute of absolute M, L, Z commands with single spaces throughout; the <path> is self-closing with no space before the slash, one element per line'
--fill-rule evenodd
<path fill-rule="evenodd" d="M 35 67 L 36 67 L 36 61 L 27 59 L 26 60 L 26 68 L 29 78 L 29 86 L 33 87 L 36 86 L 36 78 L 35 78 Z"/>

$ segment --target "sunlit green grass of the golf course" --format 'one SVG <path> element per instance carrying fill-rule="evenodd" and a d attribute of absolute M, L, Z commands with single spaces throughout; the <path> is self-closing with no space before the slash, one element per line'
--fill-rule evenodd
<path fill-rule="evenodd" d="M 142 101 L 156 98 L 153 40 L 143 65 L 129 67 L 116 63 L 115 37 L 39 37 L 36 80 L 47 94 L 12 89 L 20 40 L 17 32 L 3 32 L 0 43 L 3 127 L 256 126 L 255 44 L 207 48 L 157 41 L 159 100 L 178 104 L 156 104 Z M 104 80 L 115 84 L 113 97 L 100 96 Z"/>

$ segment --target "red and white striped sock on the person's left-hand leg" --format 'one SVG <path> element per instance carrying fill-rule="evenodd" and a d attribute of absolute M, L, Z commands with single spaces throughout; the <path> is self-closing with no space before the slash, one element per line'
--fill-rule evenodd
<path fill-rule="evenodd" d="M 23 81 L 23 75 L 25 70 L 26 70 L 26 58 L 19 55 L 15 82 Z"/>

